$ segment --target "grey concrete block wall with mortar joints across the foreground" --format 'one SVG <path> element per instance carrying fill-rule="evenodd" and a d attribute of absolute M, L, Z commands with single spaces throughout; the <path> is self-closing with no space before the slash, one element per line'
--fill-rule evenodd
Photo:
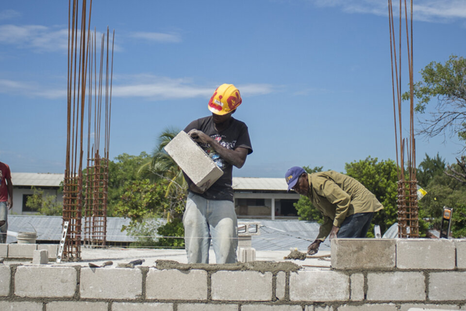
<path fill-rule="evenodd" d="M 333 240 L 332 260 L 345 267 L 338 269 L 291 262 L 188 266 L 158 261 L 156 267 L 134 269 L 0 264 L 0 310 L 466 311 L 464 241 L 352 242 Z M 353 260 L 361 257 L 358 252 L 377 260 L 384 247 L 395 254 L 382 259 L 384 265 L 363 269 L 345 259 L 346 249 Z M 413 254 L 412 262 L 403 252 Z"/>

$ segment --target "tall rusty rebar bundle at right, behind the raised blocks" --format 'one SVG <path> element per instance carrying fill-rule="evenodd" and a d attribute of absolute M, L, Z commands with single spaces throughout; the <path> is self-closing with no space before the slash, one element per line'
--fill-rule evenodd
<path fill-rule="evenodd" d="M 418 206 L 417 206 L 417 180 L 416 180 L 416 141 L 414 138 L 414 81 L 413 81 L 413 0 L 411 0 L 411 16 L 409 30 L 407 0 L 404 0 L 404 17 L 406 25 L 406 42 L 409 68 L 409 138 L 402 138 L 401 126 L 401 28 L 402 28 L 402 0 L 399 0 L 399 54 L 397 60 L 397 45 L 395 38 L 395 24 L 393 18 L 392 0 L 388 0 L 389 26 L 390 26 L 390 52 L 392 63 L 392 92 L 393 117 L 395 121 L 395 146 L 398 169 L 398 236 L 399 238 L 419 237 Z M 395 66 L 394 66 L 395 63 Z M 396 77 L 396 79 L 395 79 Z M 395 96 L 395 85 L 396 95 Z M 397 102 L 397 104 L 396 104 Z M 398 125 L 397 125 L 398 113 Z M 399 149 L 398 135 L 399 130 Z M 406 148 L 407 145 L 407 148 Z M 405 154 L 407 158 L 405 159 Z M 405 163 L 406 162 L 406 163 Z M 407 170 L 405 170 L 405 165 Z"/>

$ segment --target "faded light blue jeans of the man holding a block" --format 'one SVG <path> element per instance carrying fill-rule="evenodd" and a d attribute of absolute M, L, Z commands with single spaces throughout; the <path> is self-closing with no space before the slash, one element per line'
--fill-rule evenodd
<path fill-rule="evenodd" d="M 211 239 L 216 263 L 236 262 L 238 222 L 233 202 L 207 200 L 189 192 L 183 225 L 188 263 L 209 263 Z"/>

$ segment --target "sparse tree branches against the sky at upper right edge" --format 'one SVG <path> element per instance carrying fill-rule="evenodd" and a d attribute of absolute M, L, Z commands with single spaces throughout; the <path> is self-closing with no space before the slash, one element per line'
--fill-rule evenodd
<path fill-rule="evenodd" d="M 422 81 L 414 85 L 414 97 L 418 99 L 416 111 L 424 113 L 432 98 L 437 99 L 437 105 L 421 121 L 419 133 L 434 137 L 450 132 L 466 140 L 466 59 L 451 55 L 445 64 L 431 62 L 420 73 Z M 409 92 L 402 97 L 409 100 Z"/>

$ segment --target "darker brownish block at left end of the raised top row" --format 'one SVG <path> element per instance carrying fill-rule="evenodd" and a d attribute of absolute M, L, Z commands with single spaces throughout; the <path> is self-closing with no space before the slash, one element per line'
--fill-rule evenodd
<path fill-rule="evenodd" d="M 330 248 L 333 269 L 395 268 L 394 239 L 332 239 Z"/>

